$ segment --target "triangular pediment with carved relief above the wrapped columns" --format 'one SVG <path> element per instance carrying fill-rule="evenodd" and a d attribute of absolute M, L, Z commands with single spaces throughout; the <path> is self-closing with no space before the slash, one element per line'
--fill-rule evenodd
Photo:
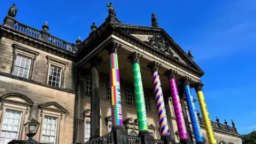
<path fill-rule="evenodd" d="M 133 38 L 135 41 L 140 42 L 141 45 L 155 49 L 155 51 L 165 57 L 170 57 L 173 61 L 178 61 L 180 65 L 196 70 L 199 76 L 204 75 L 204 71 L 193 60 L 193 55 L 183 51 L 163 28 L 128 25 L 124 23 L 113 23 L 113 26 L 119 30 L 118 32 L 123 32 L 126 37 Z"/>

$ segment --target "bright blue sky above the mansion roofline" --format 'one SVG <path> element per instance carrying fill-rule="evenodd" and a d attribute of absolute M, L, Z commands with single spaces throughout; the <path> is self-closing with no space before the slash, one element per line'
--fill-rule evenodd
<path fill-rule="evenodd" d="M 3 0 L 0 19 L 16 3 L 18 21 L 37 29 L 48 21 L 52 35 L 75 42 L 77 36 L 88 36 L 93 21 L 99 26 L 106 19 L 107 2 Z M 185 51 L 191 50 L 205 71 L 202 81 L 211 118 L 218 116 L 222 123 L 226 119 L 229 125 L 234 119 L 241 134 L 256 130 L 255 0 L 111 2 L 124 23 L 150 26 L 150 14 L 156 13 L 159 26 Z"/>

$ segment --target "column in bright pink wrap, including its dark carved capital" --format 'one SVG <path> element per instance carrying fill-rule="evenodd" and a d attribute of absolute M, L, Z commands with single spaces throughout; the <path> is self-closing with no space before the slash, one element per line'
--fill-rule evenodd
<path fill-rule="evenodd" d="M 188 139 L 188 133 L 187 133 L 186 124 L 185 124 L 185 120 L 182 113 L 180 97 L 179 97 L 178 88 L 175 80 L 175 75 L 177 74 L 177 71 L 168 70 L 164 74 L 169 79 L 170 91 L 171 91 L 172 102 L 174 107 L 174 114 L 176 117 L 177 127 L 179 130 L 180 143 L 191 143 L 189 142 L 189 139 Z"/>

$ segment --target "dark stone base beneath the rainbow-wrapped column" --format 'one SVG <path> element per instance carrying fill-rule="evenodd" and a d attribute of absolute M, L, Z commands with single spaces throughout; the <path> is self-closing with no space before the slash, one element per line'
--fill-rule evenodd
<path fill-rule="evenodd" d="M 129 144 L 129 136 L 122 126 L 113 126 L 111 129 L 115 144 Z"/>

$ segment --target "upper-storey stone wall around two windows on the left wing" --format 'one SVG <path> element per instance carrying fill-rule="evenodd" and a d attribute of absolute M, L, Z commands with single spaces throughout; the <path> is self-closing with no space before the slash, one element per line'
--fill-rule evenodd
<path fill-rule="evenodd" d="M 47 74 L 48 74 L 48 63 L 46 56 L 50 56 L 56 58 L 61 61 L 65 61 L 68 63 L 66 67 L 65 76 L 64 76 L 64 83 L 63 88 L 69 90 L 75 90 L 75 75 L 74 69 L 76 66 L 75 62 L 72 62 L 67 59 L 63 59 L 58 57 L 54 54 L 47 53 L 45 51 L 41 51 L 35 49 L 34 47 L 27 46 L 25 44 L 21 44 L 19 42 L 15 42 L 9 38 L 2 37 L 2 41 L 0 43 L 0 71 L 4 73 L 11 74 L 12 73 L 12 65 L 14 60 L 14 51 L 13 51 L 13 44 L 17 44 L 19 46 L 25 47 L 31 51 L 36 51 L 39 55 L 36 57 L 34 61 L 33 71 L 31 80 L 39 82 L 39 83 L 46 83 L 47 82 Z"/>

